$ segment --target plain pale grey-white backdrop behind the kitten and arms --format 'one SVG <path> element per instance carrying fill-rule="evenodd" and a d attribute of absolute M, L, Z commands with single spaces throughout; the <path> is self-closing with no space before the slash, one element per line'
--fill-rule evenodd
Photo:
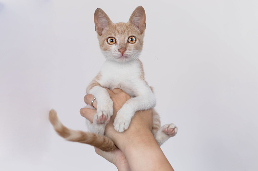
<path fill-rule="evenodd" d="M 146 11 L 140 56 L 175 170 L 258 169 L 258 1 L 0 0 L 0 170 L 116 170 L 94 148 L 59 137 L 87 130 L 79 110 L 105 61 L 94 30 Z M 148 157 L 148 156 L 146 156 Z"/>

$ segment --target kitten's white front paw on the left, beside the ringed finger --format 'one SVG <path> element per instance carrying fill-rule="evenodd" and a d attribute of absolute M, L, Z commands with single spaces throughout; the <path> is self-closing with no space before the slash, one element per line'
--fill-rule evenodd
<path fill-rule="evenodd" d="M 113 115 L 113 102 L 111 99 L 105 101 L 104 104 L 98 104 L 97 113 L 94 116 L 94 121 L 97 124 L 109 123 Z"/>

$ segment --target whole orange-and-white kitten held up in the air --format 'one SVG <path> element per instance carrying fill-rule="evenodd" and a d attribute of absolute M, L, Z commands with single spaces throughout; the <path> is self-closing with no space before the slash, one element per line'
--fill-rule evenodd
<path fill-rule="evenodd" d="M 56 112 L 49 112 L 49 120 L 60 136 L 68 141 L 75 141 L 93 145 L 103 151 L 116 148 L 112 140 L 104 136 L 106 123 L 113 114 L 113 102 L 105 88 L 120 88 L 129 94 L 129 99 L 117 112 L 114 128 L 118 132 L 128 129 L 130 121 L 136 111 L 153 110 L 152 133 L 159 145 L 177 133 L 174 124 L 160 127 L 160 117 L 153 109 L 156 105 L 152 88 L 144 78 L 141 61 L 138 59 L 143 47 L 143 37 L 146 28 L 146 15 L 142 6 L 137 7 L 127 23 L 112 23 L 107 14 L 100 8 L 94 14 L 95 30 L 97 32 L 101 51 L 106 61 L 98 75 L 87 87 L 86 93 L 96 98 L 97 113 L 93 124 L 87 121 L 91 132 L 74 131 L 66 128 L 58 120 Z M 99 118 L 105 116 L 105 123 Z M 171 132 L 174 130 L 174 134 Z"/>

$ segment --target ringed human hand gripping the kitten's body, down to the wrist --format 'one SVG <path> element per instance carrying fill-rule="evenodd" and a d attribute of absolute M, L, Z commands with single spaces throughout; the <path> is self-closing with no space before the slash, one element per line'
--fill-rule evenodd
<path fill-rule="evenodd" d="M 135 136 L 142 136 L 142 134 L 144 134 L 146 131 L 150 132 L 150 130 L 152 129 L 152 110 L 136 112 L 137 115 L 134 115 L 134 117 L 132 118 L 128 131 L 119 133 L 114 129 L 114 118 L 116 117 L 117 112 L 124 105 L 124 103 L 131 97 L 123 90 L 118 88 L 113 89 L 112 91 L 107 88 L 106 90 L 113 101 L 113 116 L 110 119 L 110 122 L 106 125 L 105 135 L 111 138 L 114 141 L 115 145 L 121 149 L 122 147 L 125 147 L 126 144 L 130 142 L 130 140 L 134 140 Z M 86 104 L 91 104 L 93 98 L 94 96 L 92 94 L 87 94 L 84 97 L 84 101 Z M 94 100 L 93 107 L 97 107 L 97 99 Z M 96 110 L 82 108 L 80 110 L 80 113 L 83 117 L 92 122 Z"/>

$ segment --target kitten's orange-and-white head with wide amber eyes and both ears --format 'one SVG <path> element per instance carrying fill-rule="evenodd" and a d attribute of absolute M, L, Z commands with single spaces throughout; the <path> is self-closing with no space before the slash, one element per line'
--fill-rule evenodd
<path fill-rule="evenodd" d="M 138 59 L 143 47 L 145 21 L 145 11 L 141 6 L 134 10 L 127 23 L 114 24 L 103 10 L 95 11 L 95 30 L 107 60 L 123 63 Z"/>

